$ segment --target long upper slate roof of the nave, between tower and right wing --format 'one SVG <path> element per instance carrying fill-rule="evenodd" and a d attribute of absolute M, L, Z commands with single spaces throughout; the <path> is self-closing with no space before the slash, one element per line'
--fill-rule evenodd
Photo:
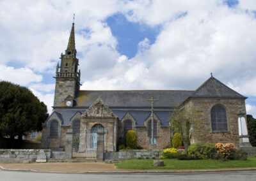
<path fill-rule="evenodd" d="M 89 107 L 97 99 L 111 107 L 150 107 L 148 98 L 158 99 L 156 107 L 173 108 L 179 106 L 189 98 L 194 91 L 79 91 L 77 106 Z"/>

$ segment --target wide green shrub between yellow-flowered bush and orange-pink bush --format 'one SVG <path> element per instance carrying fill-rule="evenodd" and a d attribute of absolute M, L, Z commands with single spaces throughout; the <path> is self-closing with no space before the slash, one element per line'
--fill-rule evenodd
<path fill-rule="evenodd" d="M 214 143 L 195 143 L 188 147 L 188 154 L 193 159 L 215 159 L 217 151 Z"/>

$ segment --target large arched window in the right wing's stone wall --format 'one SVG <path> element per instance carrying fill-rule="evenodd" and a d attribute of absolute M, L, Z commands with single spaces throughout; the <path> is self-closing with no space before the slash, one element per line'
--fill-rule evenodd
<path fill-rule="evenodd" d="M 212 131 L 228 131 L 226 110 L 220 105 L 211 109 Z"/>

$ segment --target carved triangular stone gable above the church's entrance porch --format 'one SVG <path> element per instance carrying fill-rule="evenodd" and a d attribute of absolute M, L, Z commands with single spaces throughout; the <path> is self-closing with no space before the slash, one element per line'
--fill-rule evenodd
<path fill-rule="evenodd" d="M 83 113 L 82 117 L 104 117 L 104 118 L 117 118 L 111 109 L 98 98 L 91 106 Z"/>

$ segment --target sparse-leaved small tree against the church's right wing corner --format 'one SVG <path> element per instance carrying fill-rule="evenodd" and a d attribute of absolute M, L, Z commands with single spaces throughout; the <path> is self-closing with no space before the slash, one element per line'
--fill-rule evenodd
<path fill-rule="evenodd" d="M 182 142 L 185 147 L 185 154 L 188 156 L 188 147 L 190 145 L 191 138 L 195 135 L 195 131 L 198 131 L 198 126 L 201 122 L 201 113 L 196 111 L 195 108 L 191 108 L 187 111 L 176 109 L 172 112 L 170 117 L 170 129 L 175 133 L 180 133 Z"/>

